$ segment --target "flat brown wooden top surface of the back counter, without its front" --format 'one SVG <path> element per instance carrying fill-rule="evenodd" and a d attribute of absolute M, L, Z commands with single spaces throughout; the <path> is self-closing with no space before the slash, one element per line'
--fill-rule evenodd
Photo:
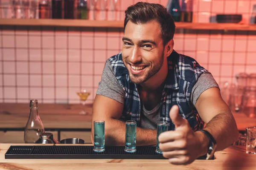
<path fill-rule="evenodd" d="M 78 104 L 40 104 L 39 115 L 46 128 L 91 128 L 92 105 L 84 110 L 88 115 L 80 115 L 83 109 Z M 247 126 L 256 126 L 256 118 L 249 118 L 244 113 L 233 113 L 239 130 Z M 0 103 L 0 128 L 23 128 L 29 118 L 28 104 Z"/>

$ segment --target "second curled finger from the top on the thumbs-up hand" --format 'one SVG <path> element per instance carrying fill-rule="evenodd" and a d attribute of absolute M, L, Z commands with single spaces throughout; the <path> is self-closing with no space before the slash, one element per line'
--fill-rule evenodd
<path fill-rule="evenodd" d="M 175 140 L 173 142 L 160 143 L 159 148 L 163 152 L 172 150 L 186 149 L 187 143 L 185 140 Z"/>

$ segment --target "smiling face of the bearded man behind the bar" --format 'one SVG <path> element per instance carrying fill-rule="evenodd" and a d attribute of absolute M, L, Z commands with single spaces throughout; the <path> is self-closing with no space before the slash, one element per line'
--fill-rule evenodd
<path fill-rule="evenodd" d="M 132 82 L 146 82 L 160 71 L 164 62 L 161 27 L 156 21 L 135 24 L 128 21 L 122 46 L 122 59 Z"/>

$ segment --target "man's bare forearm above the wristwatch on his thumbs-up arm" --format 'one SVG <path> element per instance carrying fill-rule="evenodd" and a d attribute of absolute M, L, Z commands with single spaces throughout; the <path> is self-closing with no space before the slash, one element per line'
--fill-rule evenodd
<path fill-rule="evenodd" d="M 233 144 L 233 142 L 238 139 L 239 136 L 235 119 L 231 113 L 220 113 L 216 115 L 212 118 L 211 121 L 208 122 L 207 126 L 204 129 L 209 131 L 209 133 L 211 133 L 216 140 L 216 151 L 223 150 L 226 147 L 229 147 L 231 144 Z M 209 141 L 204 133 L 200 131 L 196 133 L 200 136 L 199 138 L 202 143 L 206 143 L 206 141 Z M 204 152 L 205 151 L 207 150 L 204 150 Z"/>

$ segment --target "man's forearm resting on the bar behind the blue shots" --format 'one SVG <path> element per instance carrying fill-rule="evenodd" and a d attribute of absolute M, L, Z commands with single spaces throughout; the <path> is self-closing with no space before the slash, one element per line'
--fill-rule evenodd
<path fill-rule="evenodd" d="M 154 145 L 157 141 L 157 131 L 137 127 L 136 145 Z M 125 145 L 125 122 L 116 119 L 105 121 L 105 144 Z"/>

